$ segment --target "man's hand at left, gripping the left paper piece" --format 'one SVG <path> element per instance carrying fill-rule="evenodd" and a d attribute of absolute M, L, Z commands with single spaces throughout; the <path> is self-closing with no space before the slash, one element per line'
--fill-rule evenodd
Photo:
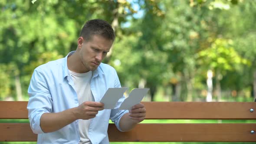
<path fill-rule="evenodd" d="M 101 102 L 86 101 L 75 108 L 74 114 L 77 119 L 88 120 L 95 118 L 95 116 L 98 114 L 98 111 L 103 109 L 104 104 Z"/>

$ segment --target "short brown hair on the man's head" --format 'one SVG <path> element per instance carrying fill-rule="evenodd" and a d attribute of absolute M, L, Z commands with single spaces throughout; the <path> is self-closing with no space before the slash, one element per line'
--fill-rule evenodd
<path fill-rule="evenodd" d="M 93 35 L 103 36 L 105 39 L 115 40 L 115 32 L 112 26 L 105 20 L 89 20 L 83 26 L 80 36 L 89 41 Z"/>

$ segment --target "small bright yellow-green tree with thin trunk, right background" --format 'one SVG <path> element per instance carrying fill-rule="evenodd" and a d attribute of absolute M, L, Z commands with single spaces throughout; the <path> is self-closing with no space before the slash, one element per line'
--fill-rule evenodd
<path fill-rule="evenodd" d="M 198 53 L 198 64 L 201 68 L 210 69 L 215 73 L 217 101 L 221 101 L 220 81 L 223 75 L 226 75 L 227 71 L 239 70 L 242 65 L 248 65 L 249 62 L 235 51 L 231 39 L 216 39 L 209 49 Z"/>

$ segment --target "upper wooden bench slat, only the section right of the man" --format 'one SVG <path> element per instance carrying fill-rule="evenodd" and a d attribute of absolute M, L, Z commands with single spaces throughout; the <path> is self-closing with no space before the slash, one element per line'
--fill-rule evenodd
<path fill-rule="evenodd" d="M 144 102 L 144 105 L 147 119 L 256 119 L 256 102 Z"/>

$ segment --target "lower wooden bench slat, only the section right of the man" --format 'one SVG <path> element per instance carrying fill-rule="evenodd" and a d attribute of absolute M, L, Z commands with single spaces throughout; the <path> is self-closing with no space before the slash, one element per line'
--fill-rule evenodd
<path fill-rule="evenodd" d="M 111 125 L 110 141 L 256 141 L 256 124 L 139 124 L 120 133 Z M 115 137 L 115 135 L 118 135 Z"/>

